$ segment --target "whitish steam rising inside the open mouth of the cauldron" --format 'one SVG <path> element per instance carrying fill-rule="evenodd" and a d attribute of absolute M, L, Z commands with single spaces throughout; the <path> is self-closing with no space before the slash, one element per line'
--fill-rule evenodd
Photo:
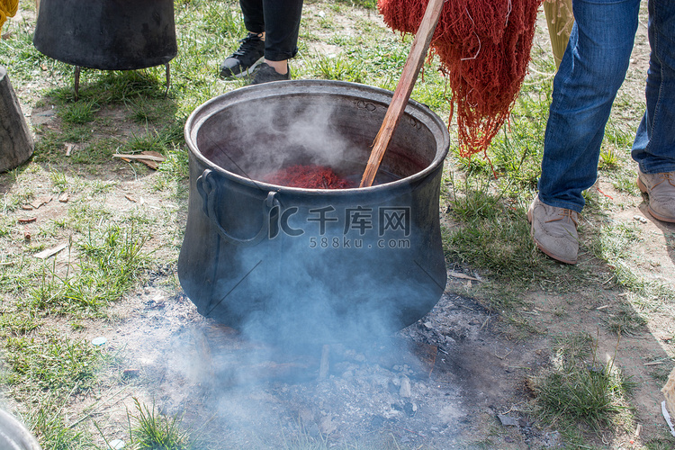
<path fill-rule="evenodd" d="M 339 127 L 344 118 L 339 116 L 332 103 L 307 103 L 293 96 L 245 108 L 233 106 L 212 118 L 212 129 L 202 128 L 208 136 L 202 153 L 226 170 L 253 180 L 296 164 L 330 166 L 347 174 L 363 172 L 367 140 L 347 139 Z"/>

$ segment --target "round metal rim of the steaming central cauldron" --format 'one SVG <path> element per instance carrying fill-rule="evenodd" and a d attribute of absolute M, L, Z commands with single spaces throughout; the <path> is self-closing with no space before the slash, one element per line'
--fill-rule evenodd
<path fill-rule="evenodd" d="M 370 187 L 354 187 L 347 189 L 308 189 L 301 187 L 291 187 L 284 186 L 282 184 L 270 184 L 264 181 L 259 181 L 253 178 L 248 178 L 246 176 L 237 175 L 229 170 L 214 164 L 209 158 L 204 157 L 202 152 L 197 148 L 196 138 L 199 132 L 199 128 L 203 122 L 207 121 L 211 115 L 215 112 L 220 112 L 223 108 L 222 103 L 223 99 L 235 100 L 235 101 L 244 101 L 249 102 L 252 99 L 263 98 L 269 96 L 270 93 L 279 92 L 283 94 L 312 94 L 312 93 L 330 93 L 338 95 L 348 95 L 353 94 L 354 96 L 359 96 L 358 94 L 369 92 L 374 94 L 374 97 L 379 97 L 377 100 L 391 101 L 393 92 L 387 89 L 376 87 L 373 85 L 363 85 L 359 83 L 347 82 L 347 81 L 338 81 L 338 80 L 288 80 L 288 81 L 275 81 L 271 83 L 266 83 L 262 85 L 247 85 L 229 91 L 224 94 L 220 94 L 216 97 L 207 100 L 206 102 L 197 106 L 190 116 L 185 121 L 184 126 L 184 137 L 185 142 L 187 143 L 188 148 L 190 148 L 194 157 L 199 159 L 204 166 L 208 166 L 211 170 L 215 170 L 220 175 L 224 175 L 236 181 L 240 184 L 244 184 L 248 187 L 254 189 L 260 189 L 265 191 L 272 192 L 281 192 L 281 193 L 291 193 L 298 194 L 302 193 L 305 195 L 317 195 L 317 196 L 340 196 L 340 195 L 354 195 L 354 194 L 368 194 L 372 195 L 374 193 L 381 193 L 384 191 L 395 190 L 399 187 L 410 185 L 412 183 L 424 180 L 431 172 L 437 169 L 437 166 L 442 165 L 446 159 L 448 150 L 450 148 L 450 136 L 446 129 L 446 124 L 441 121 L 437 114 L 431 109 L 423 104 L 419 103 L 413 99 L 410 99 L 406 107 L 405 113 L 413 116 L 419 115 L 414 112 L 423 113 L 427 116 L 428 120 L 435 122 L 437 125 L 437 133 L 434 130 L 430 130 L 437 138 L 437 143 L 442 142 L 442 146 L 437 146 L 443 148 L 442 151 L 437 151 L 434 159 L 422 170 L 416 172 L 415 174 L 406 176 L 396 181 L 389 183 L 377 184 Z M 374 100 L 374 97 L 368 97 L 367 100 Z M 388 101 L 386 103 L 389 103 Z M 428 124 L 428 121 L 423 121 L 425 124 Z"/>

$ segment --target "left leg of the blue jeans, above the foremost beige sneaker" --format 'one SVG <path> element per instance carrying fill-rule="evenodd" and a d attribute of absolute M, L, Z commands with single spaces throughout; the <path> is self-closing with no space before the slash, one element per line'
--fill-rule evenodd
<path fill-rule="evenodd" d="M 640 0 L 573 0 L 575 23 L 554 78 L 539 198 L 580 212 L 633 50 Z"/>

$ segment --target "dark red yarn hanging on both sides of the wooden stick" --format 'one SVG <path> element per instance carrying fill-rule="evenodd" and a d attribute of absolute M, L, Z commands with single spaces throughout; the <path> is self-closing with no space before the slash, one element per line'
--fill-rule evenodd
<path fill-rule="evenodd" d="M 430 49 L 452 93 L 460 155 L 485 152 L 509 119 L 527 73 L 543 0 L 446 0 Z M 415 33 L 428 0 L 378 0 L 384 22 Z"/>

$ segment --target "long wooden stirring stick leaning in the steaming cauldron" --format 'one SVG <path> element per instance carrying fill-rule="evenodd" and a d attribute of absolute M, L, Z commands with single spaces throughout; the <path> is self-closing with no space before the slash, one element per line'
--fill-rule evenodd
<path fill-rule="evenodd" d="M 403 66 L 401 79 L 399 80 L 399 84 L 396 85 L 396 90 L 392 96 L 392 103 L 389 103 L 382 126 L 375 137 L 373 149 L 368 158 L 368 164 L 365 166 L 364 176 L 361 178 L 359 187 L 373 185 L 384 152 L 387 150 L 393 132 L 396 130 L 396 126 L 401 120 L 401 115 L 405 111 L 406 104 L 410 100 L 410 93 L 412 93 L 412 88 L 415 87 L 419 69 L 422 68 L 424 58 L 427 57 L 431 37 L 434 35 L 438 18 L 440 18 L 441 11 L 443 10 L 443 2 L 444 0 L 429 0 L 424 17 L 422 17 L 422 22 L 419 23 L 418 32 L 412 41 L 410 54 L 408 55 L 408 59 L 406 59 L 405 66 Z"/>

